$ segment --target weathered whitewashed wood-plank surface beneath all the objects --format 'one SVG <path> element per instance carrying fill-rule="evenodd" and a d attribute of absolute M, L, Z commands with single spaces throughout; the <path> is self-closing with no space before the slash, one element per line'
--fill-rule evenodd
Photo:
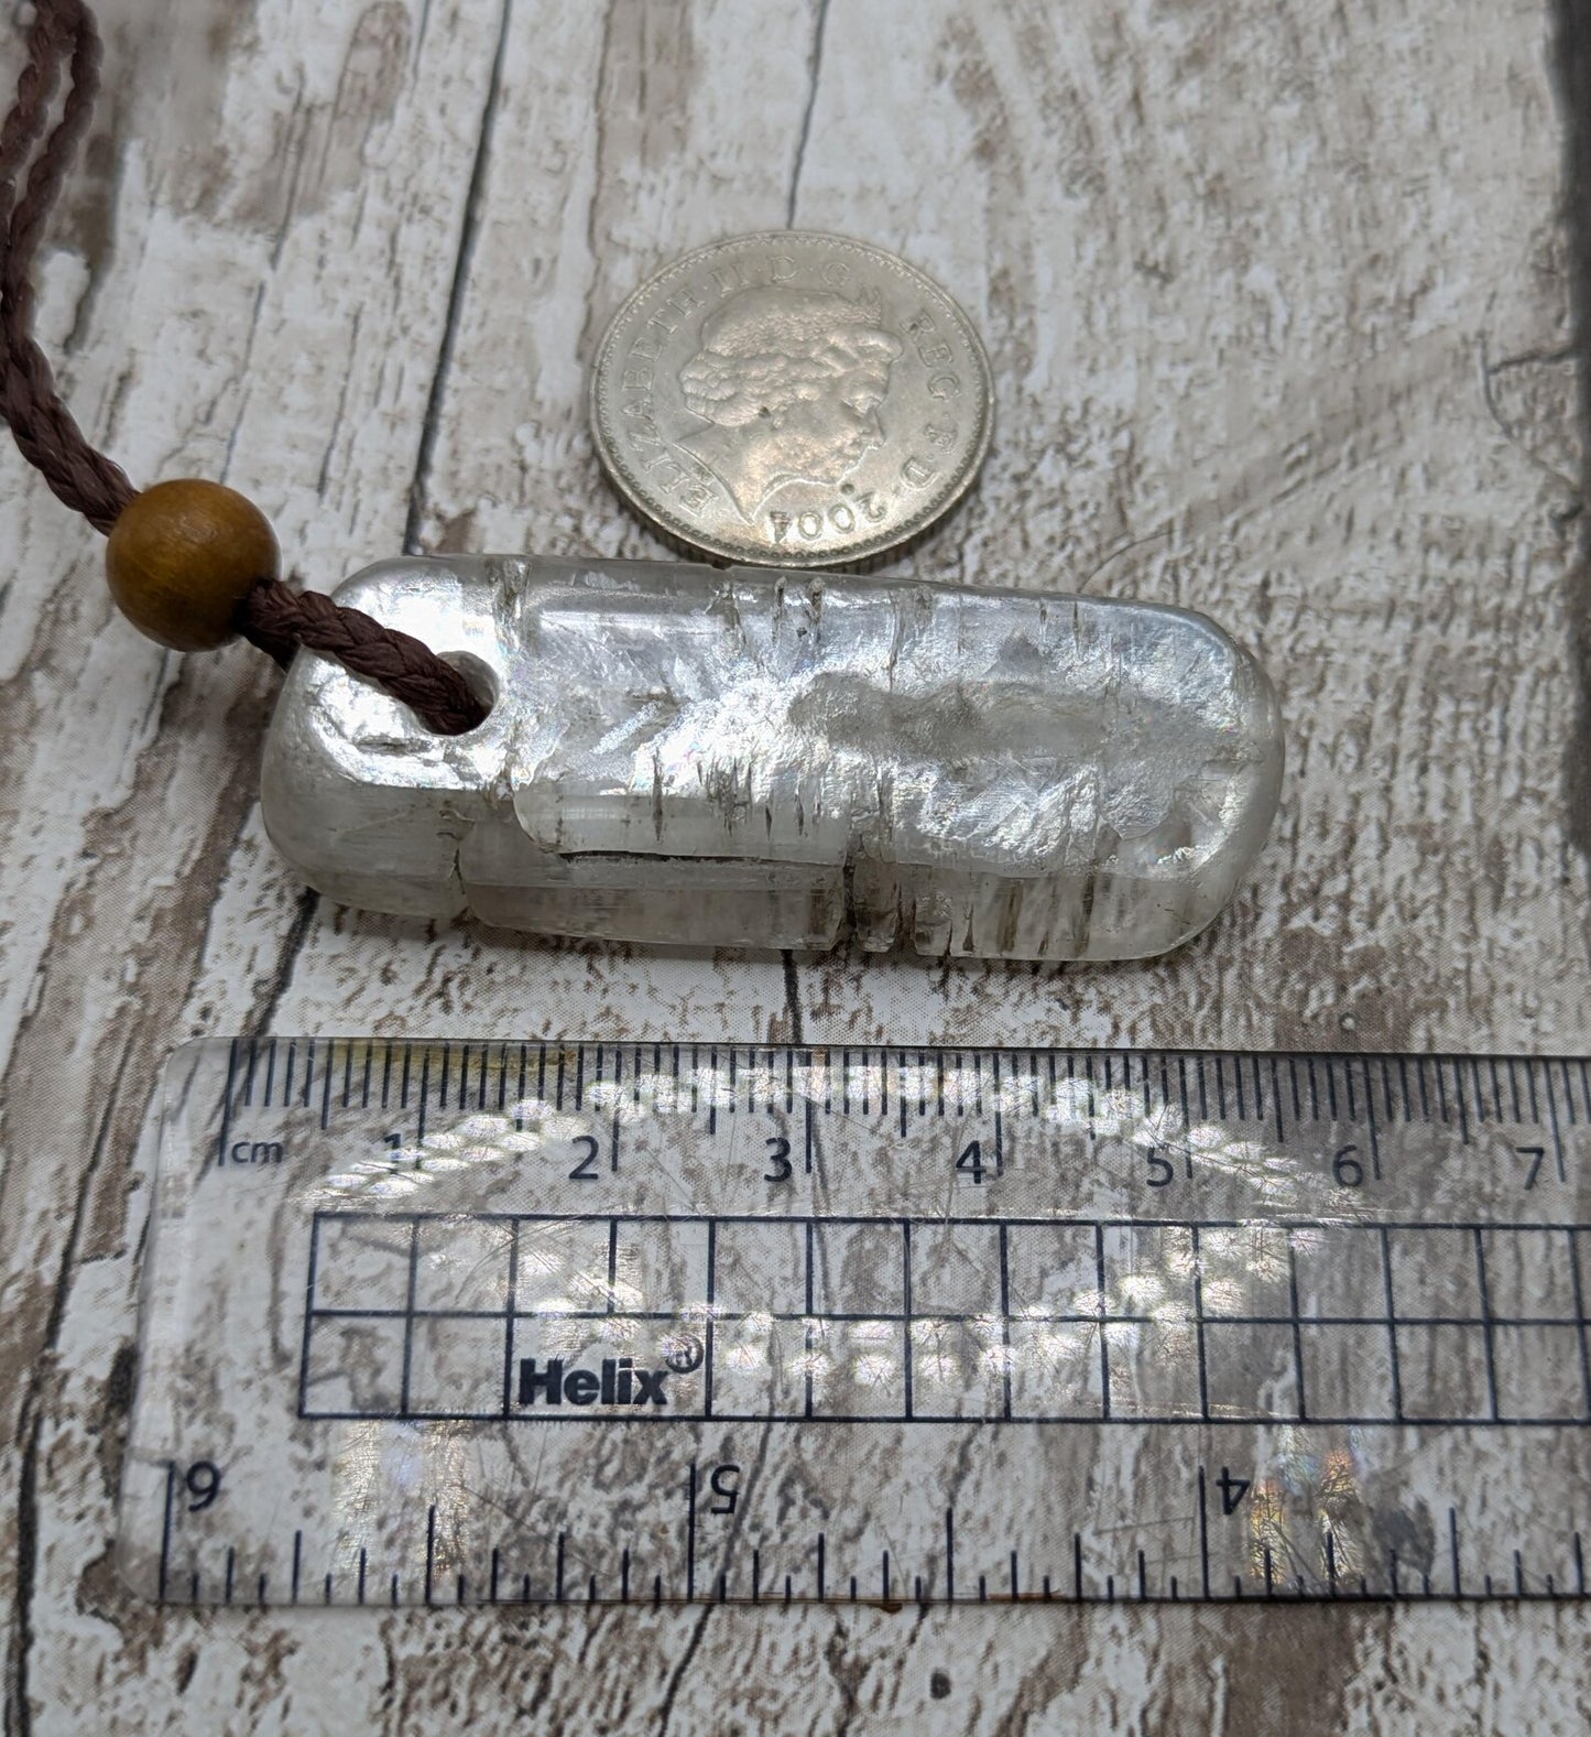
<path fill-rule="evenodd" d="M 108 1556 L 132 1148 L 181 1037 L 1584 1049 L 1544 0 L 106 10 L 42 328 L 135 479 L 247 490 L 318 582 L 405 542 L 655 552 L 584 431 L 608 313 L 717 234 L 849 231 L 934 273 L 997 377 L 981 486 L 912 566 L 1207 610 L 1291 768 L 1237 907 L 1145 968 L 787 981 L 332 910 L 259 829 L 271 674 L 135 639 L 7 452 L 9 1728 L 1582 1727 L 1572 1608 L 191 1617 Z"/>

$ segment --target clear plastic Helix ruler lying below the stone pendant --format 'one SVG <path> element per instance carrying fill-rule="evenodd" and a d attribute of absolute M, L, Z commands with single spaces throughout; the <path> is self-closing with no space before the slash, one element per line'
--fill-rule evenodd
<path fill-rule="evenodd" d="M 217 1042 L 167 1603 L 1582 1598 L 1584 1061 Z"/>

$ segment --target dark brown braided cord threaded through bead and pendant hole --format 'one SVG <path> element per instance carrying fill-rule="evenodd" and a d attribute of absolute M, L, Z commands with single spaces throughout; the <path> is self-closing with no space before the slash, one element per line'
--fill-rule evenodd
<path fill-rule="evenodd" d="M 63 68 L 66 99 L 49 127 Z M 89 445 L 33 339 L 33 261 L 97 89 L 99 33 L 89 7 L 83 0 L 36 0 L 16 101 L 0 123 L 0 419 L 54 493 L 97 532 L 109 533 L 135 490 L 120 466 Z M 280 580 L 266 580 L 243 603 L 236 627 L 281 665 L 299 646 L 337 658 L 443 735 L 474 730 L 486 716 L 464 676 L 429 646 L 320 592 L 294 592 Z"/>

